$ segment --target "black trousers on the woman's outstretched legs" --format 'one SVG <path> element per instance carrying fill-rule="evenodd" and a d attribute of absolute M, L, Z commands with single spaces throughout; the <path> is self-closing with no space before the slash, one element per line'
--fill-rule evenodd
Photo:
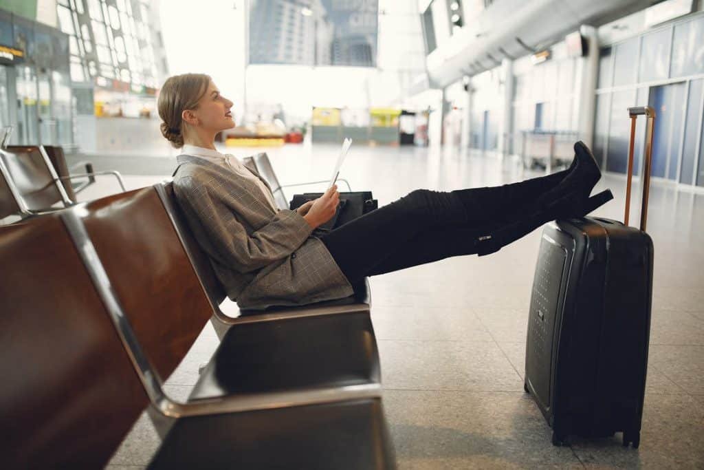
<path fill-rule="evenodd" d="M 475 254 L 482 232 L 516 221 L 566 174 L 560 171 L 510 185 L 451 192 L 415 190 L 320 240 L 353 285 L 366 276 Z M 514 239 L 541 222 L 534 225 Z"/>

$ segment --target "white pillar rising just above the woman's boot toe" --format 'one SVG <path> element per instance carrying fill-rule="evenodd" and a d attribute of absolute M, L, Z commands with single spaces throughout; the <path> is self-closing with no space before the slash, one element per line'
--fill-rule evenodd
<path fill-rule="evenodd" d="M 578 84 L 577 84 L 577 132 L 579 139 L 588 147 L 593 144 L 594 133 L 594 112 L 596 109 L 596 79 L 599 73 L 599 42 L 596 36 L 596 28 L 582 25 L 579 32 L 582 33 L 587 44 L 587 55 L 577 62 Z"/>

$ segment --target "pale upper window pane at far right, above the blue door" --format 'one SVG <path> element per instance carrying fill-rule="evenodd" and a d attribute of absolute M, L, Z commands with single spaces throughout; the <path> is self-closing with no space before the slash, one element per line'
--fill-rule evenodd
<path fill-rule="evenodd" d="M 674 26 L 672 77 L 704 72 L 704 18 Z"/>

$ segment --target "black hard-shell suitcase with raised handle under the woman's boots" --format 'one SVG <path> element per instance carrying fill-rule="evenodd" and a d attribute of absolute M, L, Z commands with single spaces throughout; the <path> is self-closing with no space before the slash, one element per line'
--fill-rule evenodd
<path fill-rule="evenodd" d="M 627 191 L 631 190 L 636 116 L 648 117 L 641 229 L 585 217 L 543 230 L 533 281 L 525 390 L 553 428 L 553 444 L 568 435 L 623 432 L 640 443 L 648 364 L 653 241 L 645 233 L 655 114 L 631 108 Z"/>

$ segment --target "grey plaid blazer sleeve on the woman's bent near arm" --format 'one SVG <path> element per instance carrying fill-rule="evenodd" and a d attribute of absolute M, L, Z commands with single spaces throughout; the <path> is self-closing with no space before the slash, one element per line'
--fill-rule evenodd
<path fill-rule="evenodd" d="M 198 219 L 222 260 L 241 273 L 286 258 L 313 232 L 298 212 L 282 209 L 269 223 L 248 234 L 217 188 L 186 176 L 179 178 L 174 189 L 180 205 Z"/>

